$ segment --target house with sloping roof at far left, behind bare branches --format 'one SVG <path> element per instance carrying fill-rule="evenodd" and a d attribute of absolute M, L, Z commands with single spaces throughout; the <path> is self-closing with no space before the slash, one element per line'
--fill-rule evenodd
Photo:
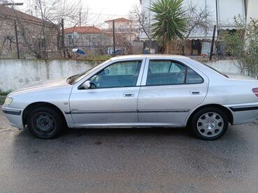
<path fill-rule="evenodd" d="M 55 24 L 1 4 L 0 24 L 1 58 L 46 58 L 57 49 Z"/>

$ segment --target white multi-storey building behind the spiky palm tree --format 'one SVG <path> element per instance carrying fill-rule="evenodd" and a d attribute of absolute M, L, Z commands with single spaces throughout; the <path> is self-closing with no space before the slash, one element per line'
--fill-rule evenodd
<path fill-rule="evenodd" d="M 153 23 L 153 13 L 149 10 L 153 1 L 155 0 L 140 0 L 142 13 L 148 17 L 149 26 Z M 247 22 L 250 17 L 258 17 L 257 3 L 257 0 L 184 0 L 185 8 L 190 4 L 196 5 L 202 10 L 208 10 L 211 15 L 209 29 L 196 26 L 188 36 L 188 45 L 191 47 L 188 54 L 208 55 L 211 50 L 213 26 L 217 26 L 216 38 L 220 30 L 234 29 L 234 16 L 240 15 Z M 139 38 L 146 40 L 146 34 L 141 32 Z"/>

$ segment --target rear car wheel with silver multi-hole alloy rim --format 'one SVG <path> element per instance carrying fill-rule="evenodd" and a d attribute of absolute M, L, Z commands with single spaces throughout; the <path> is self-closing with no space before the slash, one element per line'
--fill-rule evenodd
<path fill-rule="evenodd" d="M 195 135 L 204 140 L 215 140 L 222 137 L 228 126 L 227 115 L 214 107 L 197 111 L 190 122 L 190 127 Z"/>

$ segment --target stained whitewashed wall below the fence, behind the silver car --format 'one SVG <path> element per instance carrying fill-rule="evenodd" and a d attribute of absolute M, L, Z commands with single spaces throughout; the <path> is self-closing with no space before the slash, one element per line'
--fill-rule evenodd
<path fill-rule="evenodd" d="M 68 77 L 93 68 L 100 62 L 73 61 L 73 60 L 0 60 L 0 89 L 15 90 L 37 84 L 47 79 Z M 213 68 L 231 74 L 239 74 L 240 70 L 232 61 L 208 62 Z"/>

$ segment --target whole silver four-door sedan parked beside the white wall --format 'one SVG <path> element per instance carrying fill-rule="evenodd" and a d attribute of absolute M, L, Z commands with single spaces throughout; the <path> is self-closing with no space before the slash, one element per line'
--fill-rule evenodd
<path fill-rule="evenodd" d="M 121 56 L 8 95 L 10 124 L 42 139 L 63 128 L 186 127 L 218 139 L 258 116 L 258 81 L 230 79 L 184 56 Z"/>

